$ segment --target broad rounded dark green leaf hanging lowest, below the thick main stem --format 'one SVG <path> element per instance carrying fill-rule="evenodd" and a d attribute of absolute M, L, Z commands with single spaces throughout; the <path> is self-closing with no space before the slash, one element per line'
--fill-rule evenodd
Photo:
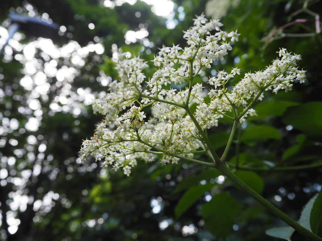
<path fill-rule="evenodd" d="M 206 228 L 217 238 L 225 238 L 232 232 L 235 217 L 241 209 L 230 195 L 220 193 L 201 209 Z"/>

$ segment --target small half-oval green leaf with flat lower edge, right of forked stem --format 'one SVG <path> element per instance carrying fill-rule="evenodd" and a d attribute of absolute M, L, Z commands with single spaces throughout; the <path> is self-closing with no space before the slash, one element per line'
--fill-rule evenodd
<path fill-rule="evenodd" d="M 279 131 L 267 125 L 251 126 L 247 128 L 242 134 L 241 140 L 246 141 L 250 139 L 280 139 Z"/>

